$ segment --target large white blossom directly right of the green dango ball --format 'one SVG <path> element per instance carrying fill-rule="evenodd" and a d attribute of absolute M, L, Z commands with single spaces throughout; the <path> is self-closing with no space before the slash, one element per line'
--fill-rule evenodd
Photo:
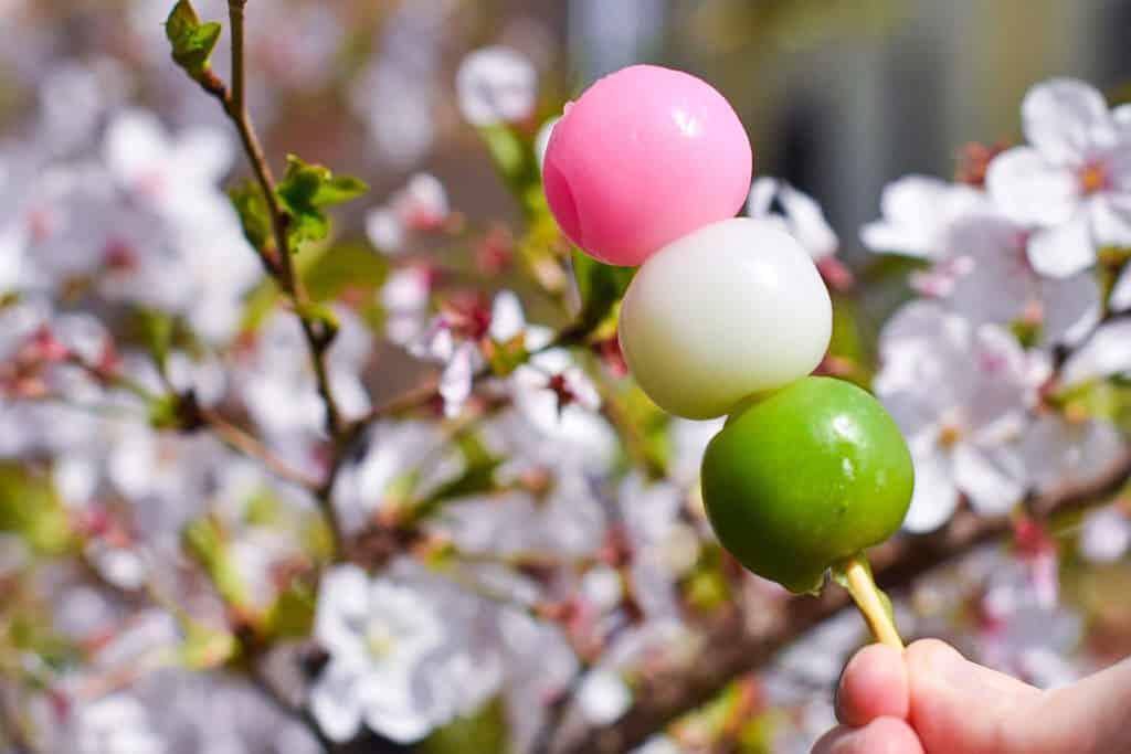
<path fill-rule="evenodd" d="M 913 302 L 888 322 L 875 392 L 907 436 L 915 493 L 904 526 L 942 526 L 965 494 L 979 513 L 1021 500 L 1019 441 L 1028 424 L 1031 365 L 1008 332 L 973 327 L 931 302 Z"/>

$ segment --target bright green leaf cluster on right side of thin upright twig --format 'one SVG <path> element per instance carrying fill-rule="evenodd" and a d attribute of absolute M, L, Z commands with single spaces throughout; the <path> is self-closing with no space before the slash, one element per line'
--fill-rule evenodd
<path fill-rule="evenodd" d="M 291 218 L 292 250 L 307 241 L 321 241 L 330 233 L 330 220 L 322 211 L 363 194 L 369 187 L 359 179 L 334 175 L 322 165 L 310 165 L 287 156 L 287 171 L 275 189 L 283 210 Z"/>

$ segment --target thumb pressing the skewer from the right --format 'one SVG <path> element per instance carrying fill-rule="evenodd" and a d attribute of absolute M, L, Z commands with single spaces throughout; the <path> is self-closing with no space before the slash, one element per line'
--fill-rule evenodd
<path fill-rule="evenodd" d="M 927 752 L 1131 752 L 1131 661 L 1042 692 L 970 662 L 940 641 L 907 648 L 909 721 Z"/>

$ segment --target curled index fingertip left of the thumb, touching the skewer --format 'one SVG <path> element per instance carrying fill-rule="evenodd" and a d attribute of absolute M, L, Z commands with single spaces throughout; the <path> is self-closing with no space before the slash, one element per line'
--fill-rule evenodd
<path fill-rule="evenodd" d="M 903 652 L 870 644 L 848 661 L 837 688 L 837 719 L 860 728 L 877 718 L 906 720 L 910 686 Z"/>

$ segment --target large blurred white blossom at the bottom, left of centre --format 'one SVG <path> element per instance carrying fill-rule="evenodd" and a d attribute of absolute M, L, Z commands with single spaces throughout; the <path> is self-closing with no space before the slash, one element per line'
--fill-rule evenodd
<path fill-rule="evenodd" d="M 322 581 L 314 638 L 330 660 L 311 690 L 319 725 L 334 740 L 364 722 L 398 743 L 420 740 L 498 690 L 497 610 L 395 564 L 370 580 L 342 565 Z M 452 633 L 458 626 L 460 634 Z"/>

